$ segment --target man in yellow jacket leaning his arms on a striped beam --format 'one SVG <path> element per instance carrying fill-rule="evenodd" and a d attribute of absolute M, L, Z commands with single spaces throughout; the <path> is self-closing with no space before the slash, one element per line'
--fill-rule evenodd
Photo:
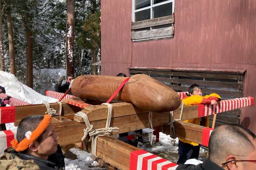
<path fill-rule="evenodd" d="M 189 104 L 212 104 L 216 105 L 221 101 L 221 97 L 215 93 L 202 96 L 202 87 L 198 84 L 193 84 L 189 87 L 187 96 L 183 98 L 185 105 Z M 185 120 L 184 122 L 193 123 L 201 126 L 209 127 L 209 117 L 201 117 L 196 119 Z M 200 145 L 198 143 L 179 138 L 179 160 L 177 164 L 184 164 L 188 159 L 198 159 Z"/>

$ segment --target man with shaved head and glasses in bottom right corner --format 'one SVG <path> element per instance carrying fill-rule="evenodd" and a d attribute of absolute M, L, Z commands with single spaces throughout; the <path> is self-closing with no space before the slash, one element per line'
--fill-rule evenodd
<path fill-rule="evenodd" d="M 224 124 L 214 129 L 209 140 L 209 158 L 202 164 L 181 164 L 176 170 L 254 170 L 256 136 L 238 124 Z"/>

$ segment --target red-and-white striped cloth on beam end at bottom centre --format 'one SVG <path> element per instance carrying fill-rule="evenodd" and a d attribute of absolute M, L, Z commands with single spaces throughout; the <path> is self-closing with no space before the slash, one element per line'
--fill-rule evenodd
<path fill-rule="evenodd" d="M 175 170 L 177 164 L 144 150 L 130 154 L 130 170 Z"/>

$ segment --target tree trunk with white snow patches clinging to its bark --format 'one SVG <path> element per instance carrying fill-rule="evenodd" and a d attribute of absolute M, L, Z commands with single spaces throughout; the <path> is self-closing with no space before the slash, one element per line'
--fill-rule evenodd
<path fill-rule="evenodd" d="M 74 0 L 67 0 L 66 72 L 74 75 Z"/>

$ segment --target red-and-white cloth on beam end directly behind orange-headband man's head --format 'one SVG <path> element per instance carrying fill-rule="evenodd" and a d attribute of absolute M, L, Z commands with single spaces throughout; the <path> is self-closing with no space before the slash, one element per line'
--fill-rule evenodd
<path fill-rule="evenodd" d="M 2 156 L 3 151 L 11 146 L 11 141 L 16 138 L 17 129 L 0 131 L 0 155 Z"/>

